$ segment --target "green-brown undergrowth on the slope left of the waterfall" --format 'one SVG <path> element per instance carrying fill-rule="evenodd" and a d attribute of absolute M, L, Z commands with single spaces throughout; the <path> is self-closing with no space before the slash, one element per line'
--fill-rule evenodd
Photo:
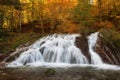
<path fill-rule="evenodd" d="M 45 35 L 45 34 L 44 34 Z M 0 53 L 8 54 L 15 51 L 15 49 L 20 45 L 30 45 L 35 40 L 44 36 L 40 33 L 10 33 L 9 36 L 0 39 Z"/>

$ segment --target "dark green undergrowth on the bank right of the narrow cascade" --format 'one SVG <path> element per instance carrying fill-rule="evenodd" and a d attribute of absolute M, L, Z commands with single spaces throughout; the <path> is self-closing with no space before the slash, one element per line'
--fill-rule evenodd
<path fill-rule="evenodd" d="M 102 34 L 102 41 L 105 46 L 107 46 L 112 53 L 120 52 L 120 32 L 114 29 L 102 29 L 100 31 Z"/>

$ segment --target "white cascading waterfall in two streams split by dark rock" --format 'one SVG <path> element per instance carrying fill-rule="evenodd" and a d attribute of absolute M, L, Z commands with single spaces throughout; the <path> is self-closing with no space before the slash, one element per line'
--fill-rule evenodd
<path fill-rule="evenodd" d="M 94 51 L 98 33 L 88 36 L 91 64 L 103 64 L 100 56 Z M 46 64 L 90 64 L 87 57 L 76 47 L 76 37 L 79 34 L 53 34 L 43 37 L 29 46 L 27 51 L 21 53 L 8 66 Z"/>

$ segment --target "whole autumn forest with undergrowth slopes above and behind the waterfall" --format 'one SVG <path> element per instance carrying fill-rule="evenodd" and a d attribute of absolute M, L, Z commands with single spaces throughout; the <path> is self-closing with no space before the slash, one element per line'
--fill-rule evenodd
<path fill-rule="evenodd" d="M 53 33 L 100 31 L 120 49 L 120 0 L 0 0 L 0 53 Z"/>

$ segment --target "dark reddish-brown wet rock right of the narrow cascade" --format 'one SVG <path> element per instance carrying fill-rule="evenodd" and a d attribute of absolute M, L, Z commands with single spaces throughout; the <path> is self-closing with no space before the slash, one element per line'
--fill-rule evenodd
<path fill-rule="evenodd" d="M 117 52 L 117 49 L 113 46 L 115 45 L 104 41 L 104 39 L 99 36 L 95 51 L 101 56 L 105 63 L 118 65 L 120 64 L 120 53 Z"/>

